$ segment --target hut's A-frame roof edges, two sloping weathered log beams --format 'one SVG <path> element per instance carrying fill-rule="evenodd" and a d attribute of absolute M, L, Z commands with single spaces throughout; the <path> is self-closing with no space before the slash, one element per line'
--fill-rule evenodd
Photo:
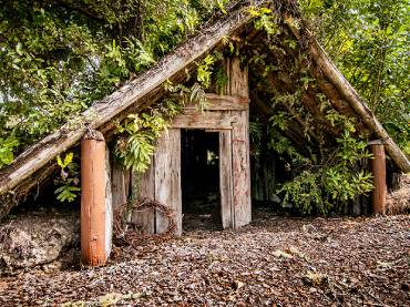
<path fill-rule="evenodd" d="M 30 146 L 11 165 L 0 172 L 0 218 L 8 214 L 24 197 L 23 195 L 55 170 L 55 157 L 78 144 L 89 129 L 110 131 L 113 127 L 112 121 L 114 119 L 121 117 L 122 114 L 126 114 L 127 112 L 143 110 L 156 101 L 165 94 L 163 86 L 165 82 L 182 82 L 186 75 L 186 71 L 193 71 L 195 69 L 195 62 L 208 52 L 221 47 L 222 41 L 226 37 L 245 33 L 246 35 L 255 37 L 255 40 L 259 40 L 259 43 L 263 43 L 263 35 L 254 33 L 255 31 L 253 33 L 244 32 L 246 27 L 252 22 L 252 17 L 248 12 L 250 6 L 274 7 L 276 13 L 280 16 L 280 22 L 287 27 L 288 35 L 306 44 L 308 57 L 312 60 L 312 68 L 309 70 L 309 73 L 311 78 L 319 80 L 318 91 L 321 91 L 329 98 L 338 112 L 348 116 L 357 116 L 360 120 L 359 124 L 362 129 L 370 131 L 376 137 L 383 141 L 386 150 L 396 165 L 404 173 L 410 172 L 410 162 L 407 156 L 389 136 L 355 89 L 329 60 L 316 39 L 301 23 L 299 27 L 286 24 L 286 20 L 298 18 L 289 17 L 295 7 L 295 1 L 279 1 L 281 3 L 280 9 L 275 7 L 275 2 L 278 1 L 243 0 L 233 3 L 227 9 L 226 14 L 205 24 L 198 34 L 188 39 L 172 53 L 164 57 L 151 70 L 136 76 L 104 100 L 92 105 L 81 117 L 74 121 L 74 129 L 72 123 L 66 124 Z M 249 40 L 253 39 L 250 38 Z M 266 45 L 266 50 L 268 49 L 268 45 Z M 289 57 L 293 57 L 293 54 L 290 53 Z M 289 84 L 287 84 L 286 79 L 289 78 L 291 76 L 287 75 L 276 79 L 273 76 L 269 86 L 276 86 L 277 89 L 287 86 Z M 257 96 L 254 98 L 255 100 L 259 99 Z M 315 111 L 316 102 L 312 96 L 306 94 L 304 95 L 304 100 Z M 317 115 L 319 119 L 320 114 L 314 115 Z M 35 181 L 32 180 L 33 177 L 35 177 Z"/>

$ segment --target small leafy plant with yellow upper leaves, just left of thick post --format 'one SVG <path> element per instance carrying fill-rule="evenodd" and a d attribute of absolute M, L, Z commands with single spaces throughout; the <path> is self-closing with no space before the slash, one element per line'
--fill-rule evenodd
<path fill-rule="evenodd" d="M 54 184 L 59 186 L 54 194 L 61 203 L 72 203 L 78 198 L 81 191 L 79 187 L 79 164 L 73 160 L 73 153 L 68 153 L 64 158 L 61 158 L 60 155 L 57 157 L 57 164 L 60 166 L 60 178 L 54 181 Z"/>

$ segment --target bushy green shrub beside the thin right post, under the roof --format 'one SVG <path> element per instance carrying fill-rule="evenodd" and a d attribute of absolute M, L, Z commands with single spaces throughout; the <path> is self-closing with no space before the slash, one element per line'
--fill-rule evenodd
<path fill-rule="evenodd" d="M 321 156 L 319 163 L 315 163 L 314 158 L 299 160 L 298 168 L 303 171 L 277 191 L 284 193 L 284 203 L 291 202 L 303 214 L 327 215 L 342 212 L 349 201 L 371 192 L 370 173 L 355 171 L 356 165 L 371 157 L 366 150 L 367 143 L 358 141 L 347 130 L 337 143 L 338 146 Z M 281 147 L 283 152 L 286 150 L 295 156 L 289 142 Z"/>

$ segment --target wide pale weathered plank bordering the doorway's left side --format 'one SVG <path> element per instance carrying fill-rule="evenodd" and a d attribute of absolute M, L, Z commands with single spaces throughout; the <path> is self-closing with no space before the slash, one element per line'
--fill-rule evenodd
<path fill-rule="evenodd" d="M 163 133 L 155 153 L 155 198 L 176 212 L 176 235 L 182 234 L 181 130 Z M 166 232 L 168 219 L 156 212 L 156 233 Z"/>

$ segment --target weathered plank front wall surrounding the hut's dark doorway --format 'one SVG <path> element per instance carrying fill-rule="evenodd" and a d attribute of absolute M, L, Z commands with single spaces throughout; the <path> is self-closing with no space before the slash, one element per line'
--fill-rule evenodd
<path fill-rule="evenodd" d="M 132 188 L 140 197 L 156 199 L 176 212 L 176 234 L 182 234 L 181 188 L 181 129 L 205 129 L 219 132 L 221 214 L 224 228 L 237 228 L 252 221 L 250 160 L 249 160 L 249 108 L 248 72 L 240 68 L 239 59 L 225 61 L 228 83 L 223 93 L 208 94 L 211 110 L 199 112 L 189 105 L 177 115 L 173 127 L 160 137 L 150 170 L 143 176 L 132 175 Z M 125 180 L 120 174 L 113 188 L 124 194 Z M 124 183 L 122 183 L 124 182 Z M 134 193 L 133 192 L 133 193 Z M 141 209 L 134 212 L 132 222 L 142 226 L 142 233 L 163 233 L 168 219 L 161 212 Z"/>

